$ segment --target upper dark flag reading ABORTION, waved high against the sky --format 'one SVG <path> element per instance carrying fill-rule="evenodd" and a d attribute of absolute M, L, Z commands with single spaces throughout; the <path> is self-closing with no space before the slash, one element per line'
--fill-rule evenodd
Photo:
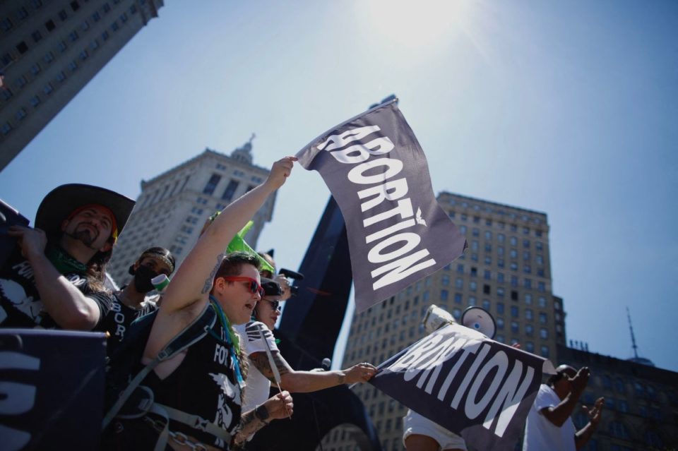
<path fill-rule="evenodd" d="M 359 312 L 436 272 L 466 240 L 436 202 L 429 168 L 396 100 L 297 153 L 318 171 L 346 223 Z"/>

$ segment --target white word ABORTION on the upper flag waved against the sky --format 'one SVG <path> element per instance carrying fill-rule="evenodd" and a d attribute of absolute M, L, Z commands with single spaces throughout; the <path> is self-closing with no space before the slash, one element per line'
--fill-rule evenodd
<path fill-rule="evenodd" d="M 358 198 L 364 200 L 360 204 L 360 210 L 363 213 L 384 202 L 396 202 L 396 206 L 390 210 L 364 217 L 362 224 L 365 229 L 398 215 L 404 220 L 376 231 L 370 231 L 365 237 L 365 243 L 374 243 L 367 253 L 367 260 L 369 263 L 383 264 L 370 272 L 374 290 L 398 282 L 436 264 L 434 258 L 427 259 L 430 253 L 426 248 L 416 250 L 422 239 L 415 229 L 396 234 L 398 231 L 410 229 L 417 224 L 425 225 L 426 223 L 423 220 L 418 222 L 408 219 L 414 217 L 415 213 L 410 198 L 403 198 L 409 191 L 407 179 L 388 180 L 400 174 L 403 170 L 403 162 L 388 157 L 369 160 L 371 155 L 384 155 L 395 148 L 388 136 L 374 138 L 367 143 L 361 142 L 378 131 L 381 131 L 381 128 L 376 125 L 352 128 L 329 136 L 317 146 L 319 150 L 330 152 L 330 155 L 340 163 L 357 164 L 347 174 L 347 178 L 353 184 L 376 185 L 357 191 Z M 346 147 L 350 143 L 355 144 Z M 381 172 L 375 172 L 378 169 L 381 169 Z"/>

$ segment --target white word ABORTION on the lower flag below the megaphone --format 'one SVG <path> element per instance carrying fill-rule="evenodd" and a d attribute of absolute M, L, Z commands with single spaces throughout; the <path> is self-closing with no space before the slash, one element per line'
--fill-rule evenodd
<path fill-rule="evenodd" d="M 504 380 L 511 365 L 505 351 L 500 349 L 487 359 L 492 349 L 487 342 L 460 335 L 446 337 L 445 341 L 443 339 L 444 335 L 429 335 L 389 365 L 388 370 L 401 372 L 403 380 L 407 382 L 419 376 L 417 389 L 423 389 L 431 395 L 444 362 L 458 355 L 436 397 L 440 401 L 452 397 L 450 407 L 454 410 L 462 409 L 468 419 L 476 419 L 487 410 L 482 425 L 495 435 L 504 436 L 506 428 L 535 378 L 535 368 L 525 366 L 523 362 L 514 359 L 511 373 Z M 470 368 L 463 373 L 462 380 L 455 380 L 469 356 L 473 359 Z M 527 369 L 525 376 L 521 378 L 524 367 Z M 489 386 L 484 388 L 486 381 L 489 382 Z M 462 402 L 464 398 L 465 402 Z"/>

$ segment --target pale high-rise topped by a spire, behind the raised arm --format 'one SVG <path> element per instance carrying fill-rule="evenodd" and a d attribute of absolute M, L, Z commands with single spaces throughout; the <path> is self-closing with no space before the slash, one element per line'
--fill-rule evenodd
<path fill-rule="evenodd" d="M 208 148 L 154 179 L 141 181 L 141 194 L 108 265 L 115 282 L 129 282 L 129 265 L 151 246 L 169 249 L 177 265 L 181 263 L 213 212 L 266 180 L 269 170 L 252 164 L 251 150 L 251 140 L 231 155 Z M 275 193 L 252 218 L 254 226 L 245 236 L 252 247 L 263 224 L 270 222 L 274 204 Z"/>

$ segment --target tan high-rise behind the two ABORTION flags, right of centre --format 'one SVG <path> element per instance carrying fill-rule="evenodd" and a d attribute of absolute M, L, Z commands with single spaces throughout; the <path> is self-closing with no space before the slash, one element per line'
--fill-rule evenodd
<path fill-rule="evenodd" d="M 466 235 L 467 251 L 397 296 L 356 313 L 342 367 L 381 363 L 422 338 L 422 318 L 432 303 L 457 319 L 466 307 L 482 306 L 496 320 L 494 339 L 554 359 L 566 337 L 562 299 L 552 294 L 547 215 L 452 193 L 441 193 L 438 203 Z M 371 385 L 353 390 L 369 411 L 383 450 L 403 449 L 407 409 Z M 355 449 L 349 435 L 335 429 L 323 449 Z"/>

